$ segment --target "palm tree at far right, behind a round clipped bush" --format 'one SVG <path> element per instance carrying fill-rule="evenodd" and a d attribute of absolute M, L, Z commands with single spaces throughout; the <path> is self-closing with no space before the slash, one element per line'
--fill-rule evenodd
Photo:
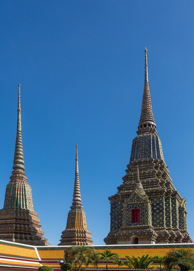
<path fill-rule="evenodd" d="M 179 270 L 179 263 L 191 263 L 194 266 L 194 252 L 189 249 L 172 249 L 164 260 L 164 267 L 166 270 L 171 270 L 177 266 Z"/>

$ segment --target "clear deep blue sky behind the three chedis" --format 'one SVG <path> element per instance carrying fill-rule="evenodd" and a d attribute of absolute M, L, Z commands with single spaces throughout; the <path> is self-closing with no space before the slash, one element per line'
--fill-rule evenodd
<path fill-rule="evenodd" d="M 136 136 L 148 49 L 152 104 L 173 184 L 193 209 L 193 1 L 1 1 L 1 189 L 11 176 L 21 84 L 26 176 L 57 245 L 72 203 L 75 145 L 94 244 L 110 230 Z"/>

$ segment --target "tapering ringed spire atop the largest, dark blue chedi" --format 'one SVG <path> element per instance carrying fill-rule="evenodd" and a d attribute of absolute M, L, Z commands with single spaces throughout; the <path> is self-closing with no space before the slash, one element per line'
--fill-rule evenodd
<path fill-rule="evenodd" d="M 137 134 L 152 133 L 157 134 L 156 124 L 152 111 L 152 100 L 150 94 L 150 86 L 148 80 L 148 59 L 147 49 L 145 47 L 145 77 L 144 77 L 144 93 L 142 99 L 141 116 L 138 125 Z"/>

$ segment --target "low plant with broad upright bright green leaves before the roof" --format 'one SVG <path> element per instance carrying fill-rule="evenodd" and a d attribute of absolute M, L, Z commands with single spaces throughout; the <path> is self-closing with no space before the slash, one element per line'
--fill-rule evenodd
<path fill-rule="evenodd" d="M 129 256 L 125 256 L 126 259 L 129 261 L 128 262 L 123 262 L 123 261 L 114 261 L 113 263 L 117 263 L 119 266 L 127 266 L 129 269 L 135 269 L 137 270 L 148 270 L 150 265 L 153 263 L 151 258 L 148 258 L 147 255 L 143 255 L 141 258 L 137 257 L 137 259 L 133 256 L 133 259 L 130 258 Z M 155 268 L 150 268 L 150 269 L 155 269 Z"/>

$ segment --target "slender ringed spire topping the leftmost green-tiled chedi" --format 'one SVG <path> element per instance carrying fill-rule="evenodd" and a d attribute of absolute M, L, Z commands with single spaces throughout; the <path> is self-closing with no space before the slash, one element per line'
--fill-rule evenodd
<path fill-rule="evenodd" d="M 24 155 L 21 137 L 21 107 L 20 107 L 20 84 L 18 85 L 18 117 L 17 117 L 17 134 L 15 141 L 15 154 L 13 169 L 24 170 Z"/>

